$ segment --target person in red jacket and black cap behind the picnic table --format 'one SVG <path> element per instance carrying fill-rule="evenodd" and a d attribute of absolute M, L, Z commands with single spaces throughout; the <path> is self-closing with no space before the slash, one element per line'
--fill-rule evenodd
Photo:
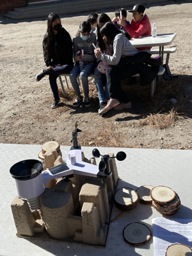
<path fill-rule="evenodd" d="M 132 8 L 132 10 L 128 10 L 128 12 L 132 12 L 132 21 L 131 26 L 128 26 L 125 21 L 120 19 L 119 24 L 125 27 L 125 30 L 129 33 L 132 38 L 140 37 L 141 35 L 150 35 L 151 34 L 151 26 L 150 21 L 145 14 L 145 6 L 141 4 L 136 4 Z M 149 51 L 151 47 L 143 47 L 137 48 L 139 51 L 145 50 Z"/>

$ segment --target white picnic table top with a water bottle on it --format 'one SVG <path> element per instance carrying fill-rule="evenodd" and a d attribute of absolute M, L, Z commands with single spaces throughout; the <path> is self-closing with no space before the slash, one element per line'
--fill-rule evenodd
<path fill-rule="evenodd" d="M 156 37 L 152 35 L 143 35 L 142 37 L 132 38 L 131 44 L 136 47 L 150 47 L 150 46 L 166 46 L 173 42 L 176 33 L 158 34 Z"/>

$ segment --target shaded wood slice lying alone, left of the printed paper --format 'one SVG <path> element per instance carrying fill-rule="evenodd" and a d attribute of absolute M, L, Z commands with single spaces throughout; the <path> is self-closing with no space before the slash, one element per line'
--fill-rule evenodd
<path fill-rule="evenodd" d="M 146 244 L 151 239 L 151 232 L 148 226 L 141 223 L 130 223 L 125 226 L 124 240 L 132 246 L 140 246 Z"/>

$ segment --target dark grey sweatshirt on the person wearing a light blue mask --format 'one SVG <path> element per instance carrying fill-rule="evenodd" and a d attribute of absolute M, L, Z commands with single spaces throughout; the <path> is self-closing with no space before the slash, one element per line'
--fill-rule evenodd
<path fill-rule="evenodd" d="M 79 50 L 84 50 L 84 62 L 95 62 L 95 53 L 93 44 L 96 42 L 95 33 L 90 32 L 90 38 L 83 40 L 80 35 L 76 35 L 73 39 L 74 56 Z"/>

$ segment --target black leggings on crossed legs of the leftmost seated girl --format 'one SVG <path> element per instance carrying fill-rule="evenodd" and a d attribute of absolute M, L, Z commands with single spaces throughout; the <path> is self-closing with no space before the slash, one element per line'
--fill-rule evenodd
<path fill-rule="evenodd" d="M 45 75 L 49 75 L 49 84 L 52 89 L 52 94 L 56 100 L 60 98 L 56 79 L 62 74 L 69 74 L 72 68 L 73 65 L 63 65 L 58 68 L 52 68 L 51 70 L 44 70 Z"/>

